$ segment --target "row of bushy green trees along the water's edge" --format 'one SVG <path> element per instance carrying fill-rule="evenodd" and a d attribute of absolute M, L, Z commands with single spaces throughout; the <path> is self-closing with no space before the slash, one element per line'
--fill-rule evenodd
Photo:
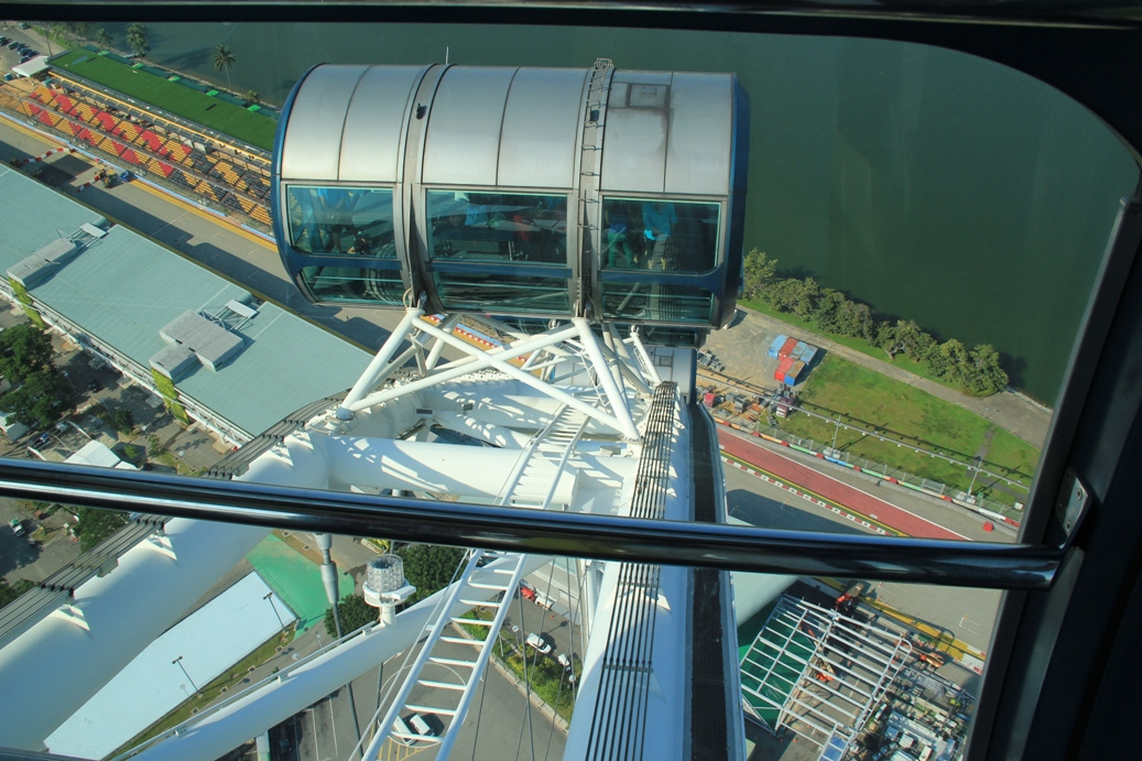
<path fill-rule="evenodd" d="M 956 338 L 941 343 L 915 320 L 878 320 L 868 304 L 822 288 L 813 278 L 780 277 L 778 261 L 756 248 L 746 255 L 743 278 L 745 298 L 812 322 L 821 333 L 860 338 L 884 350 L 890 360 L 904 354 L 966 394 L 987 396 L 1007 387 L 999 352 L 990 344 L 968 349 Z"/>

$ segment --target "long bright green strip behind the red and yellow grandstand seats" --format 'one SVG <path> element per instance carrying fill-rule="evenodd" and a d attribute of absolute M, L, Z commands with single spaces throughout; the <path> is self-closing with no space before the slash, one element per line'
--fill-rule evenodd
<path fill-rule="evenodd" d="M 51 65 L 243 143 L 273 150 L 278 122 L 265 113 L 247 111 L 90 50 L 65 54 Z"/>

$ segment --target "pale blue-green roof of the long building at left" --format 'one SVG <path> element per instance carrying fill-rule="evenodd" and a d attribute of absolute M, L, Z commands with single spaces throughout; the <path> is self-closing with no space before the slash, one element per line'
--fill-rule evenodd
<path fill-rule="evenodd" d="M 21 262 L 102 217 L 18 171 L 0 167 L 0 208 L 21 224 L 0 226 L 0 269 Z M 10 210 L 10 213 L 9 213 Z M 159 336 L 183 312 L 222 311 L 249 295 L 240 287 L 126 227 L 30 289 L 103 343 L 143 367 L 167 344 Z M 247 320 L 246 343 L 217 373 L 192 370 L 178 388 L 257 434 L 304 404 L 353 385 L 369 354 L 274 304 Z"/>

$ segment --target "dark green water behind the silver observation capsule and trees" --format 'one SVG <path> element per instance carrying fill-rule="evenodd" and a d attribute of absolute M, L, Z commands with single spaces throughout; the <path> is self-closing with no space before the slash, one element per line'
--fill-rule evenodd
<path fill-rule="evenodd" d="M 443 11 L 442 11 L 443 13 Z M 122 26 L 108 25 L 118 40 Z M 562 27 L 154 24 L 151 58 L 281 103 L 313 64 L 734 71 L 749 93 L 746 248 L 990 343 L 1047 403 L 1137 168 L 1083 107 L 996 64 L 876 40 Z"/>

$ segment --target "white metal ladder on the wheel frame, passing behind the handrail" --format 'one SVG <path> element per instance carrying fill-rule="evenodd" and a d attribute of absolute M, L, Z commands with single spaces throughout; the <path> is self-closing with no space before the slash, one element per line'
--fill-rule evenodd
<path fill-rule="evenodd" d="M 555 417 L 524 450 L 520 465 L 512 473 L 510 487 L 500 504 L 547 507 L 555 494 L 560 475 L 589 422 L 590 418 L 579 410 L 568 406 L 561 407 Z M 429 630 L 428 635 L 411 666 L 409 676 L 405 678 L 400 692 L 380 721 L 365 758 L 377 758 L 381 745 L 386 743 L 389 752 L 394 743 L 423 744 L 425 747 L 435 745 L 436 758 L 448 756 L 475 695 L 475 687 L 480 683 L 491 657 L 492 647 L 499 639 L 508 606 L 515 598 L 523 576 L 524 558 L 525 555 L 517 553 L 472 551 L 451 593 L 429 617 L 426 624 L 426 628 Z M 488 559 L 492 562 L 484 567 Z M 489 620 L 453 616 L 451 611 L 458 606 L 489 608 L 493 611 L 493 616 Z M 445 633 L 452 624 L 469 627 L 468 631 L 475 628 L 483 639 Z M 457 647 L 463 654 L 455 652 Z M 444 654 L 442 650 L 448 652 Z M 425 675 L 425 670 L 429 667 L 451 671 L 456 679 L 455 681 L 429 679 Z M 429 694 L 432 699 L 411 703 L 412 689 L 418 686 L 432 690 Z M 397 718 L 409 713 L 434 714 L 444 723 L 444 731 L 437 736 L 426 736 L 399 728 Z"/>

